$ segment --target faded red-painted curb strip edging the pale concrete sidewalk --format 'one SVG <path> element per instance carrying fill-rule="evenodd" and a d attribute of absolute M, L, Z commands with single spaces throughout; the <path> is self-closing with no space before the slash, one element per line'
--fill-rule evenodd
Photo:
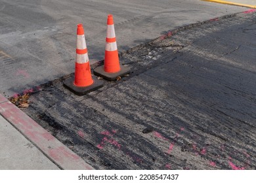
<path fill-rule="evenodd" d="M 0 114 L 16 127 L 24 136 L 33 142 L 49 159 L 62 169 L 92 170 L 91 165 L 85 163 L 72 150 L 58 141 L 51 133 L 43 129 L 18 107 L 0 94 Z"/>

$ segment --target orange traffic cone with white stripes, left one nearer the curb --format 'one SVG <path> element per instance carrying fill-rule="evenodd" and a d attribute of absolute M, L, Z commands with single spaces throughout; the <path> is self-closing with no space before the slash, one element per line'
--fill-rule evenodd
<path fill-rule="evenodd" d="M 77 46 L 75 56 L 75 76 L 64 82 L 64 86 L 77 95 L 84 95 L 102 87 L 103 82 L 91 75 L 91 68 L 85 42 L 83 25 L 77 25 Z"/>

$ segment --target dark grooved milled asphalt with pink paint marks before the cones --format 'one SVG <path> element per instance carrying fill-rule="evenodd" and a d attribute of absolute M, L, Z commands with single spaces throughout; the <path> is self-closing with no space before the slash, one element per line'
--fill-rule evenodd
<path fill-rule="evenodd" d="M 248 12 L 169 31 L 121 54 L 129 76 L 54 80 L 24 111 L 95 169 L 255 169 L 255 30 Z"/>

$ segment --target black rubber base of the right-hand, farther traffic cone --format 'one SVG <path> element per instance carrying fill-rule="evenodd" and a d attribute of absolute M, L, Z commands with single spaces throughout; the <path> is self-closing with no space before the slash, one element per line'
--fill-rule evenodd
<path fill-rule="evenodd" d="M 106 80 L 116 80 L 118 76 L 123 76 L 123 75 L 127 75 L 130 73 L 131 71 L 131 67 L 127 66 L 127 65 L 120 65 L 121 70 L 117 73 L 106 73 L 104 71 L 104 65 L 100 66 L 100 67 L 96 67 L 93 70 L 93 73 L 97 76 L 100 76 Z"/>

